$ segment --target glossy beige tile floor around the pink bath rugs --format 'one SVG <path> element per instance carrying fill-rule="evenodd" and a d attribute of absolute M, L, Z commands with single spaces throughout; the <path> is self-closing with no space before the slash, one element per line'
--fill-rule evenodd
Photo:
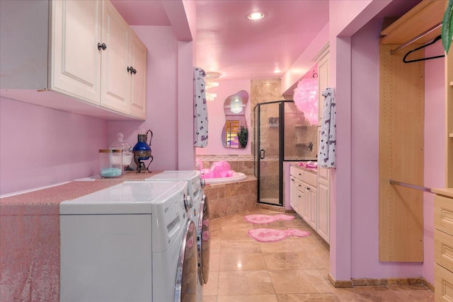
<path fill-rule="evenodd" d="M 328 245 L 299 216 L 258 225 L 246 222 L 247 214 L 282 213 L 256 209 L 211 221 L 210 276 L 203 302 L 434 301 L 423 285 L 336 289 L 327 277 Z M 299 228 L 311 236 L 259 243 L 248 237 L 251 228 Z"/>

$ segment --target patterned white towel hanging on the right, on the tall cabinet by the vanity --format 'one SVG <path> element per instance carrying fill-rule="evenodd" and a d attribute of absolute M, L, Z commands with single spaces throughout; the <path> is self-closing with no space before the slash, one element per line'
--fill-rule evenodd
<path fill-rule="evenodd" d="M 336 103 L 333 88 L 323 91 L 324 107 L 319 136 L 318 167 L 336 168 Z"/>

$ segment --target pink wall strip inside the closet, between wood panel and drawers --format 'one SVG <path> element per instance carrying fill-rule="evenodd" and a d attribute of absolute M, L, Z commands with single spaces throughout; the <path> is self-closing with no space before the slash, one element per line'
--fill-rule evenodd
<path fill-rule="evenodd" d="M 425 57 L 444 52 L 439 41 L 425 48 Z M 445 59 L 425 61 L 425 187 L 445 187 Z M 424 196 L 423 277 L 434 284 L 434 195 Z"/>

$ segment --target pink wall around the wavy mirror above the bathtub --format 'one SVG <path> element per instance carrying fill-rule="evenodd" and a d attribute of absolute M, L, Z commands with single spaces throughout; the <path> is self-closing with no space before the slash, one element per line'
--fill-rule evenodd
<path fill-rule="evenodd" d="M 250 100 L 250 81 L 219 81 L 219 86 L 210 89 L 210 93 L 217 93 L 217 98 L 207 102 L 207 114 L 209 119 L 208 128 L 208 143 L 206 148 L 195 148 L 197 155 L 205 154 L 241 154 L 251 155 L 251 144 L 247 144 L 245 149 L 225 148 L 222 144 L 222 129 L 225 124 L 224 102 L 230 95 L 234 95 L 239 91 L 247 91 L 248 102 L 245 108 L 244 115 L 246 117 L 247 126 L 250 129 L 251 108 Z M 249 139 L 253 133 L 249 132 Z"/>

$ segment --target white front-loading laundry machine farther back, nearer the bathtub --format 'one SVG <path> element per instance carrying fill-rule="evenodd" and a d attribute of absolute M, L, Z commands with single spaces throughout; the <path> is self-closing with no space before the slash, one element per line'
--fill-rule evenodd
<path fill-rule="evenodd" d="M 188 183 L 188 193 L 191 197 L 193 208 L 190 219 L 197 226 L 198 247 L 198 290 L 197 301 L 202 300 L 202 284 L 206 284 L 209 277 L 210 263 L 210 214 L 205 195 L 204 180 L 198 170 L 166 170 L 162 173 L 147 178 L 146 181 L 185 180 Z"/>

